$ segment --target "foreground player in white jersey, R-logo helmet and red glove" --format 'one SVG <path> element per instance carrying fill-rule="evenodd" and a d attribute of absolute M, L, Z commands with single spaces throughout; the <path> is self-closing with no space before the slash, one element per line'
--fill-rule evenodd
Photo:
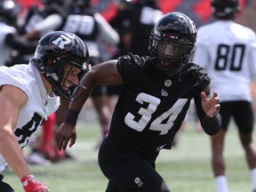
<path fill-rule="evenodd" d="M 0 68 L 0 191 L 14 191 L 3 181 L 8 164 L 26 192 L 49 191 L 29 170 L 20 148 L 36 135 L 60 97 L 76 100 L 74 87 L 88 68 L 89 52 L 76 35 L 54 31 L 43 36 L 28 64 Z"/>

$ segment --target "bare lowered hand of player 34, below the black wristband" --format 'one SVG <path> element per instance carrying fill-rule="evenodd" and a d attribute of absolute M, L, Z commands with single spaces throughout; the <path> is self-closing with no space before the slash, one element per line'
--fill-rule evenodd
<path fill-rule="evenodd" d="M 66 122 L 60 124 L 60 127 L 56 132 L 55 142 L 59 150 L 61 150 L 61 148 L 66 150 L 68 142 L 69 148 L 71 148 L 76 143 L 76 127 L 73 124 L 68 124 Z"/>

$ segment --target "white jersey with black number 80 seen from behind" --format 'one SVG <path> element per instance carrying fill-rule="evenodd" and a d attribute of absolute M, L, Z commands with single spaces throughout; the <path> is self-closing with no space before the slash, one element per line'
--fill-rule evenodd
<path fill-rule="evenodd" d="M 211 77 L 220 101 L 252 100 L 256 75 L 256 36 L 232 20 L 218 20 L 197 30 L 193 62 Z"/>

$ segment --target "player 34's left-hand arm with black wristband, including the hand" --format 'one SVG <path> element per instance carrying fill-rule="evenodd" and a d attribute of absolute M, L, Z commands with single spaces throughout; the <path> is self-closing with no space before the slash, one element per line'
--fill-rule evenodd
<path fill-rule="evenodd" d="M 123 78 L 120 76 L 116 68 L 117 60 L 108 60 L 92 67 L 92 70 L 84 75 L 80 83 L 86 87 L 83 96 L 78 100 L 70 102 L 68 112 L 65 118 L 65 122 L 60 125 L 59 130 L 56 133 L 55 141 L 59 149 L 64 150 L 68 146 L 69 148 L 76 142 L 76 121 L 77 117 L 84 106 L 85 101 L 90 96 L 92 90 L 97 84 L 116 85 L 123 84 Z M 75 90 L 76 92 L 76 90 Z M 77 94 L 82 93 L 79 90 Z"/>

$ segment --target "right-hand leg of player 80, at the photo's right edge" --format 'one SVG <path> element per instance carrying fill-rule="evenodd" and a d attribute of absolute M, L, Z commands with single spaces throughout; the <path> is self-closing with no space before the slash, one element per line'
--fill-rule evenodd
<path fill-rule="evenodd" d="M 239 129 L 239 138 L 245 152 L 245 158 L 252 176 L 252 188 L 256 190 L 256 148 L 252 139 L 253 110 L 247 101 L 236 103 L 234 118 Z"/>

